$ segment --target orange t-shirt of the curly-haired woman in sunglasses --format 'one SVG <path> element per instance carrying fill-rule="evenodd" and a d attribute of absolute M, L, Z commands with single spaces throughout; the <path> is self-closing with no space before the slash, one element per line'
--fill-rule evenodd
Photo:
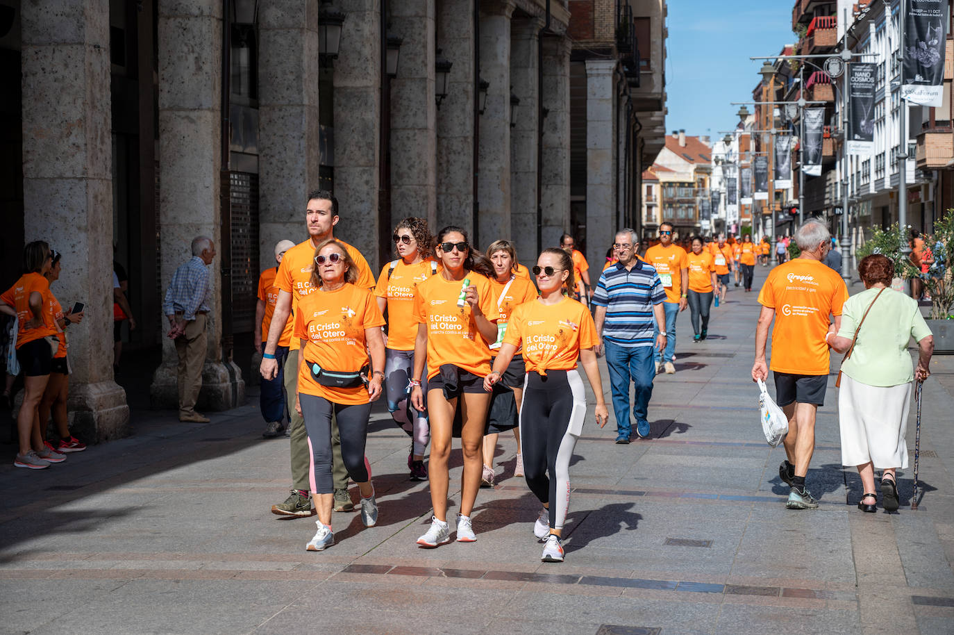
<path fill-rule="evenodd" d="M 417 339 L 417 321 L 414 319 L 414 293 L 417 286 L 433 276 L 439 267 L 435 261 L 423 260 L 404 265 L 399 260 L 388 279 L 391 263 L 384 265 L 374 294 L 387 300 L 387 348 L 414 350 Z"/>

